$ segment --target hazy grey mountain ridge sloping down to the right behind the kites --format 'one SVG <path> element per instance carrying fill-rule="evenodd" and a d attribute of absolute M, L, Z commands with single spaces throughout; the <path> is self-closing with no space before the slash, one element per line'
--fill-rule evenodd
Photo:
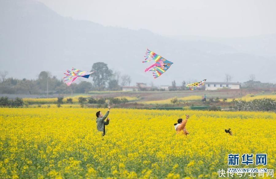
<path fill-rule="evenodd" d="M 246 47 L 236 48 L 239 39 L 227 43 L 175 39 L 143 29 L 105 27 L 62 17 L 33 0 L 0 3 L 0 70 L 9 71 L 9 76 L 36 78 L 46 70 L 62 78 L 65 69 L 90 70 L 94 62 L 105 62 L 112 70 L 129 74 L 132 84 L 154 81 L 155 85 L 165 85 L 176 80 L 181 85 L 183 80 L 204 78 L 223 81 L 225 73 L 231 74 L 233 81 L 247 81 L 255 74 L 256 80 L 276 82 L 275 50 L 268 50 L 272 55 L 261 56 L 263 53 L 253 53 Z M 150 72 L 144 73 L 153 63 L 142 64 L 146 48 L 174 62 L 155 80 Z"/>

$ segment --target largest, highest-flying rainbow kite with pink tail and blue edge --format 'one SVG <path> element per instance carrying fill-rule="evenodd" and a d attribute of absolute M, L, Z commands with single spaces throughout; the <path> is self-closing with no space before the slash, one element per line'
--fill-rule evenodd
<path fill-rule="evenodd" d="M 145 61 L 143 61 L 143 63 L 149 62 L 151 60 L 155 61 L 155 63 L 153 65 L 151 65 L 149 68 L 145 69 L 145 72 L 153 71 L 154 78 L 157 78 L 160 75 L 162 75 L 173 64 L 173 62 L 166 60 L 165 58 L 161 57 L 160 55 L 157 55 L 156 53 L 154 53 L 153 51 L 150 51 L 149 49 L 147 49 L 145 57 L 146 57 L 146 59 L 145 59 Z M 147 60 L 148 58 L 150 58 L 150 59 Z"/>

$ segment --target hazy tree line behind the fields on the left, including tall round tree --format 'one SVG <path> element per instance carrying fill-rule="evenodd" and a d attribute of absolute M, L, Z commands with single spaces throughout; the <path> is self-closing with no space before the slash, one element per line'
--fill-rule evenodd
<path fill-rule="evenodd" d="M 97 62 L 92 65 L 92 82 L 81 81 L 67 86 L 62 79 L 57 79 L 50 72 L 42 71 L 37 79 L 22 80 L 13 77 L 6 78 L 7 72 L 1 72 L 0 93 L 2 94 L 70 94 L 87 93 L 88 91 L 117 91 L 122 90 L 122 86 L 130 85 L 129 75 L 118 71 L 113 72 L 108 65 Z"/>

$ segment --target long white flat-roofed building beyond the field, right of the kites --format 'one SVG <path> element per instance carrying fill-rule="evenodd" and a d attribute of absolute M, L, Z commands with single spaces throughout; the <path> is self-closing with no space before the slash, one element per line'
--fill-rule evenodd
<path fill-rule="evenodd" d="M 229 88 L 229 89 L 239 89 L 241 83 L 232 83 L 232 82 L 207 82 L 205 83 L 205 90 L 217 90 L 222 88 Z"/>

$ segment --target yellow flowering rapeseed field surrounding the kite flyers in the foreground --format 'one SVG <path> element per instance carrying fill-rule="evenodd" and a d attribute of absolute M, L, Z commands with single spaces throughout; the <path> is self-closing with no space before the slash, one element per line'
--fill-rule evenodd
<path fill-rule="evenodd" d="M 275 113 L 111 109 L 102 140 L 98 110 L 0 108 L 0 178 L 218 178 L 228 154 L 251 153 L 276 169 Z"/>

